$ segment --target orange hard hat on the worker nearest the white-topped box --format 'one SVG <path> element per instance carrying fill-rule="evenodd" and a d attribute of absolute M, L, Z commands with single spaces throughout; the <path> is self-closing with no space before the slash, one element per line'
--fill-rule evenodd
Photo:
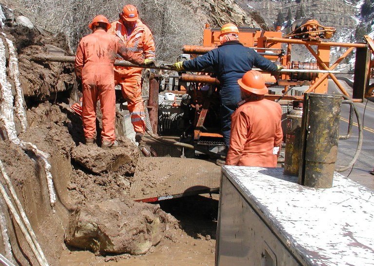
<path fill-rule="evenodd" d="M 252 92 L 258 95 L 265 95 L 267 87 L 265 86 L 265 79 L 262 74 L 256 70 L 247 71 L 243 78 L 238 80 L 240 89 L 245 92 Z"/>

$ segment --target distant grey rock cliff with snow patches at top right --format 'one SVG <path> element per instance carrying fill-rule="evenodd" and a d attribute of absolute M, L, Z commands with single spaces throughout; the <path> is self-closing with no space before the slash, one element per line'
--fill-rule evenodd
<path fill-rule="evenodd" d="M 287 21 L 290 23 L 296 18 L 314 18 L 321 25 L 334 27 L 337 30 L 331 38 L 331 41 L 336 42 L 355 42 L 355 30 L 360 23 L 362 2 L 357 0 L 237 0 L 245 12 L 260 14 L 270 29 L 274 28 L 279 17 L 284 18 L 281 23 L 284 33 L 290 31 Z M 262 29 L 266 28 L 262 26 Z M 292 54 L 292 60 L 315 62 L 314 57 L 304 47 L 296 46 Z M 339 48 L 332 48 L 331 61 L 341 54 Z M 354 57 L 353 53 L 338 66 L 338 69 L 350 71 L 353 66 L 344 63 L 348 63 L 352 57 Z"/>

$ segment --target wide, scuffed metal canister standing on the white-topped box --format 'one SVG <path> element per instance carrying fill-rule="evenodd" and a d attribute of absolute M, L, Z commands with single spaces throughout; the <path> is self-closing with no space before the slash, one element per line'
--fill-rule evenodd
<path fill-rule="evenodd" d="M 338 94 L 304 93 L 298 181 L 301 185 L 333 186 L 342 100 Z"/>

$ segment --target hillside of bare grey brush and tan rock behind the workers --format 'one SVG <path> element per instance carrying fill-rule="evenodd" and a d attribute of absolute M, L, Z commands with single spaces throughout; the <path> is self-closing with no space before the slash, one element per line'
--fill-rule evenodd
<path fill-rule="evenodd" d="M 110 21 L 126 4 L 135 5 L 140 19 L 154 36 L 157 58 L 175 61 L 185 44 L 201 44 L 206 23 L 258 26 L 232 0 L 1 0 L 3 4 L 31 19 L 39 28 L 63 33 L 72 53 L 79 39 L 90 33 L 88 24 L 102 14 Z"/>

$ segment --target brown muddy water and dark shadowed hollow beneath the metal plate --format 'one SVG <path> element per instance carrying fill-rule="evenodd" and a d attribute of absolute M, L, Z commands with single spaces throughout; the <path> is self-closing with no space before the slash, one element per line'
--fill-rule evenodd
<path fill-rule="evenodd" d="M 65 249 L 60 265 L 214 265 L 218 195 L 190 196 L 159 202 L 180 221 L 156 247 L 140 256 L 95 256 L 89 251 Z"/>

